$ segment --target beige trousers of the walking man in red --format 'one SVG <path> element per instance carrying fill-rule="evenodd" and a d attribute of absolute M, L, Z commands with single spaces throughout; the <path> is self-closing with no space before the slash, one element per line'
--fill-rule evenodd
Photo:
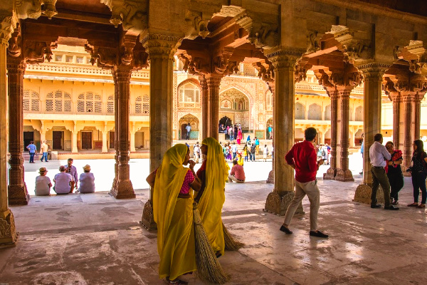
<path fill-rule="evenodd" d="M 320 191 L 319 187 L 317 187 L 317 180 L 305 183 L 295 181 L 295 196 L 286 211 L 285 222 L 283 224 L 290 224 L 297 207 L 305 195 L 310 200 L 310 230 L 317 231 L 317 213 L 320 207 Z"/>

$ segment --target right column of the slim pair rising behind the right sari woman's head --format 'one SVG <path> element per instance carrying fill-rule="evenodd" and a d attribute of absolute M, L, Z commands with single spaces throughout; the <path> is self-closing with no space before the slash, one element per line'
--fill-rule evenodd
<path fill-rule="evenodd" d="M 221 83 L 222 74 L 211 73 L 206 78 L 208 86 L 208 137 L 218 140 L 218 123 L 219 123 L 219 84 Z"/>

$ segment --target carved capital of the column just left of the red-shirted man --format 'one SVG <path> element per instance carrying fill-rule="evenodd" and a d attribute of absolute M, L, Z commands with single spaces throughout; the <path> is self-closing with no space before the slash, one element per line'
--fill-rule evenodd
<path fill-rule="evenodd" d="M 268 58 L 275 69 L 279 68 L 295 68 L 298 58 L 304 53 L 300 48 L 285 48 L 276 47 L 265 51 L 265 56 Z"/>

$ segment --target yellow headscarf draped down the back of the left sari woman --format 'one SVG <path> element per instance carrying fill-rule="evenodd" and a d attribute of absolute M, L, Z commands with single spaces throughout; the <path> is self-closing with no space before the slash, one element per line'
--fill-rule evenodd
<path fill-rule="evenodd" d="M 165 236 L 171 224 L 172 215 L 186 172 L 182 163 L 189 150 L 184 144 L 169 148 L 164 154 L 162 165 L 157 169 L 153 190 L 153 215 L 157 223 L 157 250 L 162 256 Z"/>

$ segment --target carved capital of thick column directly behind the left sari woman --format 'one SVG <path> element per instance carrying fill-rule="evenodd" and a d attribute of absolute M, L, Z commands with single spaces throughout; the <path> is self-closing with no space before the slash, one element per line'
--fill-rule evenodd
<path fill-rule="evenodd" d="M 153 56 L 173 59 L 176 49 L 181 45 L 184 39 L 177 35 L 168 35 L 164 33 L 152 33 L 145 31 L 141 35 L 141 43 L 149 54 Z"/>

